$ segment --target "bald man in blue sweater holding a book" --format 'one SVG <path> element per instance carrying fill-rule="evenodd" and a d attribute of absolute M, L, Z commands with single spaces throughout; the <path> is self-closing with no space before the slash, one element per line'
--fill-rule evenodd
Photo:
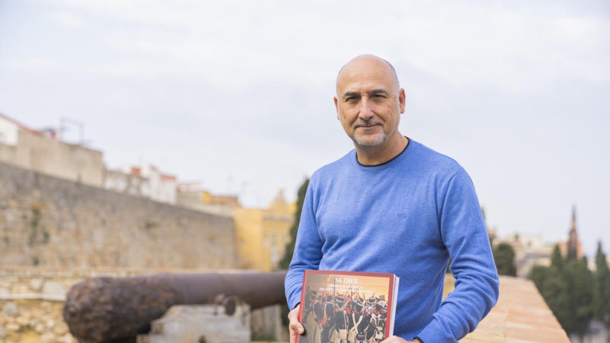
<path fill-rule="evenodd" d="M 304 332 L 297 317 L 306 269 L 397 274 L 395 336 L 386 343 L 457 342 L 497 301 L 472 181 L 453 159 L 398 131 L 405 97 L 379 57 L 358 56 L 339 71 L 337 119 L 355 150 L 309 182 L 285 279 L 291 342 Z M 450 258 L 455 290 L 441 303 Z"/>

